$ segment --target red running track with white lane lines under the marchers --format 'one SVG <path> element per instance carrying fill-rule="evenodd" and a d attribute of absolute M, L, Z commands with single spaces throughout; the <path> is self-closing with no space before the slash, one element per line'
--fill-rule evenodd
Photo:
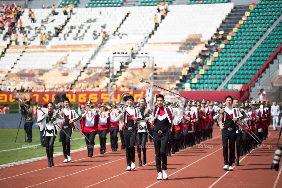
<path fill-rule="evenodd" d="M 241 156 L 240 166 L 233 171 L 222 169 L 221 132 L 214 127 L 213 139 L 168 157 L 167 181 L 157 181 L 155 151 L 152 143 L 148 143 L 147 164 L 138 167 L 136 151 L 136 168 L 132 171 L 125 171 L 125 150 L 100 155 L 100 148 L 94 148 L 94 157 L 87 157 L 86 150 L 73 152 L 72 162 L 66 164 L 63 156 L 54 157 L 55 166 L 51 168 L 47 159 L 1 168 L 0 184 L 1 187 L 281 187 L 281 172 L 270 169 L 278 133 L 270 130 L 264 145 Z"/>

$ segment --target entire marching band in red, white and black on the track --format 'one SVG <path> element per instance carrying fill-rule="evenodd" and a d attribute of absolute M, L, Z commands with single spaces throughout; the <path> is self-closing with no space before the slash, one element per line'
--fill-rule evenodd
<path fill-rule="evenodd" d="M 147 98 L 134 99 L 130 93 L 124 93 L 121 103 L 113 102 L 108 106 L 101 103 L 99 108 L 89 100 L 82 115 L 69 107 L 68 98 L 63 100 L 64 109 L 58 113 L 53 111 L 53 103 L 48 103 L 48 109 L 44 111 L 39 108 L 38 117 L 42 117 L 38 118 L 38 123 L 46 124 L 43 127 L 46 127 L 44 136 L 48 167 L 54 165 L 53 143 L 59 129 L 62 131 L 63 163 L 71 161 L 71 133 L 75 128 L 78 129 L 80 119 L 80 132 L 85 136 L 88 157 L 93 157 L 96 134 L 99 135 L 100 154 L 105 154 L 107 133 L 110 133 L 113 152 L 117 151 L 117 134 L 120 133 L 121 149 L 125 149 L 126 153 L 126 171 L 136 167 L 135 145 L 139 166 L 142 166 L 142 153 L 143 164 L 147 163 L 146 144 L 148 140 L 154 142 L 157 180 L 168 178 L 167 157 L 171 153 L 212 139 L 213 127 L 216 125 L 221 130 L 224 170 L 233 170 L 232 164 L 238 166 L 240 156 L 250 153 L 267 138 L 271 116 L 270 108 L 264 101 L 253 101 L 251 105 L 243 101 L 239 106 L 239 100 L 230 95 L 225 97 L 223 104 L 209 100 L 206 102 L 204 99 L 200 102 L 191 99 L 185 101 L 182 98 L 186 97 L 175 90 L 175 93 L 171 93 L 174 93 L 177 101 L 171 104 L 165 101 L 164 95 L 155 95 L 156 85 L 149 84 Z"/>

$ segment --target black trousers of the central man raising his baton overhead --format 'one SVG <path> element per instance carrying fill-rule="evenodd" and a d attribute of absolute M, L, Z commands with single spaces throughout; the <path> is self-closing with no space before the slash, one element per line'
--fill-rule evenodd
<path fill-rule="evenodd" d="M 169 139 L 169 132 L 158 133 L 154 131 L 154 146 L 156 154 L 156 166 L 157 172 L 162 172 L 162 170 L 167 170 L 167 142 Z M 162 160 L 162 167 L 161 167 Z"/>

